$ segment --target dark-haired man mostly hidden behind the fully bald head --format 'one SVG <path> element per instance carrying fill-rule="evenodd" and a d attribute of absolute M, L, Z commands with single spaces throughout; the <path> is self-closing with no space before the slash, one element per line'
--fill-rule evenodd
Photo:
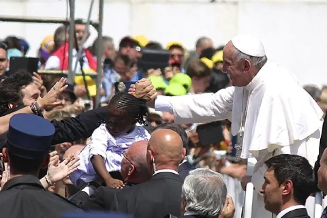
<path fill-rule="evenodd" d="M 182 179 L 185 180 L 185 177 L 189 174 L 189 172 L 191 170 L 195 169 L 195 167 L 186 160 L 186 156 L 188 155 L 189 149 L 188 149 L 188 137 L 187 137 L 185 130 L 181 126 L 174 124 L 174 123 L 161 124 L 161 125 L 155 127 L 153 129 L 153 131 L 155 131 L 157 129 L 170 129 L 170 130 L 177 132 L 177 134 L 179 134 L 181 136 L 186 155 L 185 155 L 184 160 L 178 167 L 178 173 L 180 174 Z"/>

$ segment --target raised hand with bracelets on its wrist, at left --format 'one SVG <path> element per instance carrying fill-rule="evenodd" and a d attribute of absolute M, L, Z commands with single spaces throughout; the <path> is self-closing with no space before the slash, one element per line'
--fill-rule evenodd
<path fill-rule="evenodd" d="M 54 87 L 37 103 L 41 109 L 53 109 L 57 106 L 62 106 L 62 102 L 57 102 L 58 96 L 67 88 L 65 78 L 61 78 Z"/>

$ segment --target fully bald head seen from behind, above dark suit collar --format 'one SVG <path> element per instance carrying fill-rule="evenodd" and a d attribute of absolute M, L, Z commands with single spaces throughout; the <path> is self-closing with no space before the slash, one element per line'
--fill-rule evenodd
<path fill-rule="evenodd" d="M 155 160 L 157 169 L 178 168 L 184 159 L 182 138 L 170 129 L 154 131 L 148 143 L 148 150 Z"/>

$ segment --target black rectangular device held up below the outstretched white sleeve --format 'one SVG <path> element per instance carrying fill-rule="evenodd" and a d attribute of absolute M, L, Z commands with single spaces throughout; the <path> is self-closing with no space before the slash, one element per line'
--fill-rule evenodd
<path fill-rule="evenodd" d="M 200 146 L 203 147 L 217 144 L 225 140 L 225 137 L 222 134 L 221 121 L 201 124 L 197 127 L 197 132 L 199 135 Z"/>

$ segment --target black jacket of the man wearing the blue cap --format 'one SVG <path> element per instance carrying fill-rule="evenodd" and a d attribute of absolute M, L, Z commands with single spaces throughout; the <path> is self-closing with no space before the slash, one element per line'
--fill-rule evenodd
<path fill-rule="evenodd" d="M 60 218 L 81 211 L 70 201 L 43 188 L 35 176 L 15 177 L 0 191 L 1 218 Z"/>

